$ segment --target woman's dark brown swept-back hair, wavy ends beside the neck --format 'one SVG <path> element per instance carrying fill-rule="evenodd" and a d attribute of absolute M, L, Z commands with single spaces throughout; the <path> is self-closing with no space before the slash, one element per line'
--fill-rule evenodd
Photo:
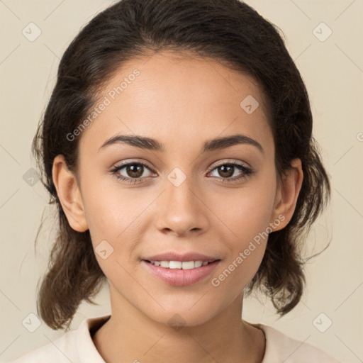
<path fill-rule="evenodd" d="M 246 295 L 261 289 L 280 315 L 300 301 L 305 284 L 301 246 L 330 197 L 330 184 L 312 136 L 306 87 L 279 31 L 238 0 L 123 0 L 94 17 L 65 51 L 33 140 L 33 155 L 59 219 L 38 291 L 38 314 L 50 328 L 69 328 L 79 304 L 93 303 L 91 297 L 106 281 L 89 230 L 79 233 L 67 222 L 52 162 L 62 154 L 77 173 L 79 138 L 70 142 L 66 135 L 86 118 L 98 91 L 123 62 L 162 50 L 189 51 L 252 76 L 266 96 L 278 175 L 292 159 L 301 159 L 303 184 L 294 215 L 286 228 L 269 234 L 262 264 L 245 289 Z"/>

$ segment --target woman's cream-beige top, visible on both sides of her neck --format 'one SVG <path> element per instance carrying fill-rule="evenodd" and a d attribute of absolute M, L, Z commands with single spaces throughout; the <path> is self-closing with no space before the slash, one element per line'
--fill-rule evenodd
<path fill-rule="evenodd" d="M 39 347 L 9 363 L 106 363 L 94 345 L 91 334 L 111 315 L 87 318 L 77 330 Z M 288 337 L 268 325 L 250 324 L 264 332 L 266 349 L 262 363 L 340 363 L 328 354 Z"/>

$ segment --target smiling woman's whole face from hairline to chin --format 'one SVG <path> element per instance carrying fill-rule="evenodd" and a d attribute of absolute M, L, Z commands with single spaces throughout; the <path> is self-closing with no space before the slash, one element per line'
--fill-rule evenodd
<path fill-rule="evenodd" d="M 259 86 L 163 52 L 125 63 L 100 100 L 77 136 L 79 200 L 111 303 L 206 322 L 242 296 L 267 233 L 287 223 Z"/>

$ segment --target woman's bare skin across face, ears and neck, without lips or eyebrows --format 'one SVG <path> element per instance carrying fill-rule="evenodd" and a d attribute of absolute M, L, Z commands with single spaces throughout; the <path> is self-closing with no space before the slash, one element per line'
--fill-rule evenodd
<path fill-rule="evenodd" d="M 274 140 L 256 82 L 219 62 L 161 52 L 132 60 L 112 77 L 104 97 L 133 72 L 140 75 L 92 122 L 80 138 L 79 170 L 67 169 L 62 155 L 53 180 L 69 225 L 89 229 L 108 278 L 111 318 L 94 335 L 106 362 L 262 362 L 262 330 L 241 319 L 243 289 L 257 272 L 267 239 L 219 286 L 218 277 L 250 241 L 279 219 L 284 228 L 296 206 L 303 172 L 300 160 L 278 182 Z M 259 107 L 246 113 L 240 102 L 252 95 Z M 243 134 L 263 148 L 240 144 L 201 152 L 206 140 Z M 114 135 L 142 135 L 164 151 L 118 143 L 99 148 Z M 145 162 L 141 180 L 126 184 L 110 170 L 121 162 Z M 238 162 L 254 173 L 227 181 L 217 162 Z M 178 167 L 186 179 L 167 179 Z M 132 178 L 126 168 L 118 171 Z M 235 168 L 230 179 L 243 174 Z M 284 220 L 281 220 L 284 218 Z M 205 279 L 171 286 L 154 277 L 140 259 L 160 252 L 200 252 L 220 259 Z M 175 314 L 180 329 L 168 324 Z"/>

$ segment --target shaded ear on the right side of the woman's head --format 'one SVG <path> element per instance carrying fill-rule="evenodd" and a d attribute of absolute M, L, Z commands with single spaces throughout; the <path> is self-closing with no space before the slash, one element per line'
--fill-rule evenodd
<path fill-rule="evenodd" d="M 281 223 L 279 223 L 278 227 L 274 228 L 274 231 L 286 227 L 291 220 L 296 208 L 296 201 L 298 200 L 298 194 L 300 193 L 302 183 L 303 169 L 301 167 L 301 160 L 294 159 L 291 161 L 291 168 L 281 176 L 281 182 L 277 186 L 274 212 L 272 213 L 273 219 L 271 220 L 271 223 L 277 219 L 279 219 Z M 284 216 L 284 218 L 282 216 Z"/>

